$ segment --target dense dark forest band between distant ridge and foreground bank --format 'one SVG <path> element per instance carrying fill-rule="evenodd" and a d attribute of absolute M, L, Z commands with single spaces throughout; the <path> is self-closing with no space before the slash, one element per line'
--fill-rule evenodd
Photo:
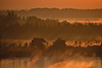
<path fill-rule="evenodd" d="M 12 11 L 0 15 L 0 36 L 3 39 L 47 40 L 101 40 L 102 23 L 70 23 L 57 19 L 42 19 L 36 16 L 21 17 Z"/>

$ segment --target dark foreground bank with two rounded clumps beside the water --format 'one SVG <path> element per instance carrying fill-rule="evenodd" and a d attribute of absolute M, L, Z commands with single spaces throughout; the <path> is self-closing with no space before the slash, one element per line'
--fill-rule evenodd
<path fill-rule="evenodd" d="M 102 44 L 100 46 L 73 47 L 65 44 L 66 41 L 57 39 L 52 45 L 43 38 L 34 38 L 30 43 L 22 44 L 0 44 L 0 58 L 21 58 L 21 57 L 100 57 L 102 58 Z"/>

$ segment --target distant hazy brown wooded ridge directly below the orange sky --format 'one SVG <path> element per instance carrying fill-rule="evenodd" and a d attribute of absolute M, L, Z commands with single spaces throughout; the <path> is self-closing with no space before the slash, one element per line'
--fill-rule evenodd
<path fill-rule="evenodd" d="M 33 8 L 14 11 L 19 16 L 37 16 L 40 18 L 102 18 L 102 9 Z"/>

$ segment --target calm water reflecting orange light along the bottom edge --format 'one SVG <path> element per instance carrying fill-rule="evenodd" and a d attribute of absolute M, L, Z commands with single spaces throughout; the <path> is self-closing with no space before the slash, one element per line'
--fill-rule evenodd
<path fill-rule="evenodd" d="M 69 57 L 64 61 L 54 62 L 48 58 L 14 58 L 2 59 L 0 68 L 102 68 L 100 58 Z"/>

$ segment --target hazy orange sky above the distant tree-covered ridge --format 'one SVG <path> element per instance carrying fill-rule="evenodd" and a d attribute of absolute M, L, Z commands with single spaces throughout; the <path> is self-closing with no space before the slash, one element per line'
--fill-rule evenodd
<path fill-rule="evenodd" d="M 102 0 L 0 0 L 0 9 L 47 8 L 102 8 Z"/>

